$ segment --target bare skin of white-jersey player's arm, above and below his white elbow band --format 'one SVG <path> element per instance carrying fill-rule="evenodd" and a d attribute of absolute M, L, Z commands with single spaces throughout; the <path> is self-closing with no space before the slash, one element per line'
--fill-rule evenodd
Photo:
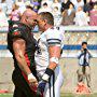
<path fill-rule="evenodd" d="M 51 57 L 57 57 L 59 58 L 60 57 L 60 46 L 50 46 L 48 47 L 48 53 L 50 53 L 50 58 Z M 56 68 L 57 64 L 56 63 L 53 63 L 53 61 L 50 61 L 50 65 L 48 65 L 48 68 L 51 68 L 52 70 L 54 70 Z"/>

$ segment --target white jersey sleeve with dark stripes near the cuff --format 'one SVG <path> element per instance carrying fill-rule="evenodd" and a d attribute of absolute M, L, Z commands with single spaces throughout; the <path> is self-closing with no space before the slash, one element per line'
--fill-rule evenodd
<path fill-rule="evenodd" d="M 50 45 L 61 46 L 63 37 L 64 37 L 64 34 L 59 30 L 51 29 L 46 33 L 46 41 L 47 41 L 48 46 Z"/>

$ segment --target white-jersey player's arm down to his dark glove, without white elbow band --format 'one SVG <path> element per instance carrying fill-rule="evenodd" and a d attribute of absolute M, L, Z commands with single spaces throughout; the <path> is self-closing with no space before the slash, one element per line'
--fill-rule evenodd
<path fill-rule="evenodd" d="M 52 57 L 57 57 L 57 58 L 59 58 L 59 57 L 60 57 L 60 46 L 56 46 L 56 45 L 50 46 L 50 47 L 48 47 L 48 53 L 50 53 L 50 59 L 51 59 Z M 42 77 L 42 81 L 39 83 L 39 86 L 38 86 L 38 88 L 39 88 L 40 91 L 42 89 L 42 92 L 44 92 L 45 84 L 46 84 L 46 82 L 48 82 L 48 79 L 50 79 L 50 77 L 54 73 L 54 69 L 55 69 L 56 67 L 57 67 L 57 63 L 50 60 L 50 65 L 48 65 L 48 67 L 46 68 L 46 70 L 45 70 L 45 72 L 44 72 L 44 74 L 43 74 L 43 77 Z"/>

